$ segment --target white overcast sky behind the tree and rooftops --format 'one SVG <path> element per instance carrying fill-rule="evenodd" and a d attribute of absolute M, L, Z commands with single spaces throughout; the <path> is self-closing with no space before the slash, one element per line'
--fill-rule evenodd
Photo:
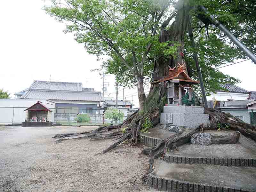
<path fill-rule="evenodd" d="M 48 0 L 49 2 L 49 0 Z M 2 1 L 0 20 L 0 89 L 12 94 L 28 88 L 34 80 L 81 82 L 84 87 L 101 91 L 102 79 L 98 72 L 102 61 L 89 55 L 83 44 L 77 44 L 71 34 L 64 34 L 64 23 L 59 23 L 41 8 L 46 1 Z M 221 68 L 225 74 L 239 78 L 238 86 L 256 91 L 256 65 L 250 60 Z M 115 97 L 115 77 L 109 76 L 108 92 Z M 124 90 L 124 97 L 132 100 L 136 89 Z M 119 99 L 123 98 L 122 88 Z M 134 96 L 134 104 L 138 104 Z"/>

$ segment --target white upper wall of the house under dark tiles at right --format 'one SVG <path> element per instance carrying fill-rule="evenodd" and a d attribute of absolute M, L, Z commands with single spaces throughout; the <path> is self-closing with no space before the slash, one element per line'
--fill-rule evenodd
<path fill-rule="evenodd" d="M 249 94 L 245 93 L 230 93 L 230 92 L 216 92 L 210 93 L 210 96 L 206 96 L 207 101 L 212 101 L 213 96 L 217 101 L 227 101 L 228 99 L 232 100 L 247 100 L 249 98 Z"/>

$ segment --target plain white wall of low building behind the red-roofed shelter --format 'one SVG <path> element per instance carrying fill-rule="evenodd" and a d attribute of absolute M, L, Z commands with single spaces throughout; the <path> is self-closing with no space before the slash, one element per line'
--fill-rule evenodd
<path fill-rule="evenodd" d="M 27 99 L 0 99 L 0 124 L 20 124 L 25 121 L 25 109 L 34 105 L 38 100 Z M 55 103 L 48 100 L 39 100 L 52 112 L 54 119 Z"/>

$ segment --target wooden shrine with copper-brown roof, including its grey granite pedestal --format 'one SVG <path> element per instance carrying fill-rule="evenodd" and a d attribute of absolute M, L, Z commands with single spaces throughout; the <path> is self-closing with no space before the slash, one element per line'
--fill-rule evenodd
<path fill-rule="evenodd" d="M 196 106 L 193 87 L 199 84 L 188 76 L 185 60 L 177 66 L 169 67 L 169 74 L 152 83 L 165 82 L 167 85 L 167 103 L 161 113 L 161 124 L 182 127 L 197 127 L 200 124 L 207 126 L 209 115 L 204 114 L 204 107 Z"/>

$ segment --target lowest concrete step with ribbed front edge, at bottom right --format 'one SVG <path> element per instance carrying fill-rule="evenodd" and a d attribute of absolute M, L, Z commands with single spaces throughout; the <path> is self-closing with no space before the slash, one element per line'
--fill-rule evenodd
<path fill-rule="evenodd" d="M 149 187 L 171 192 L 255 192 L 256 168 L 169 164 L 155 160 Z"/>

